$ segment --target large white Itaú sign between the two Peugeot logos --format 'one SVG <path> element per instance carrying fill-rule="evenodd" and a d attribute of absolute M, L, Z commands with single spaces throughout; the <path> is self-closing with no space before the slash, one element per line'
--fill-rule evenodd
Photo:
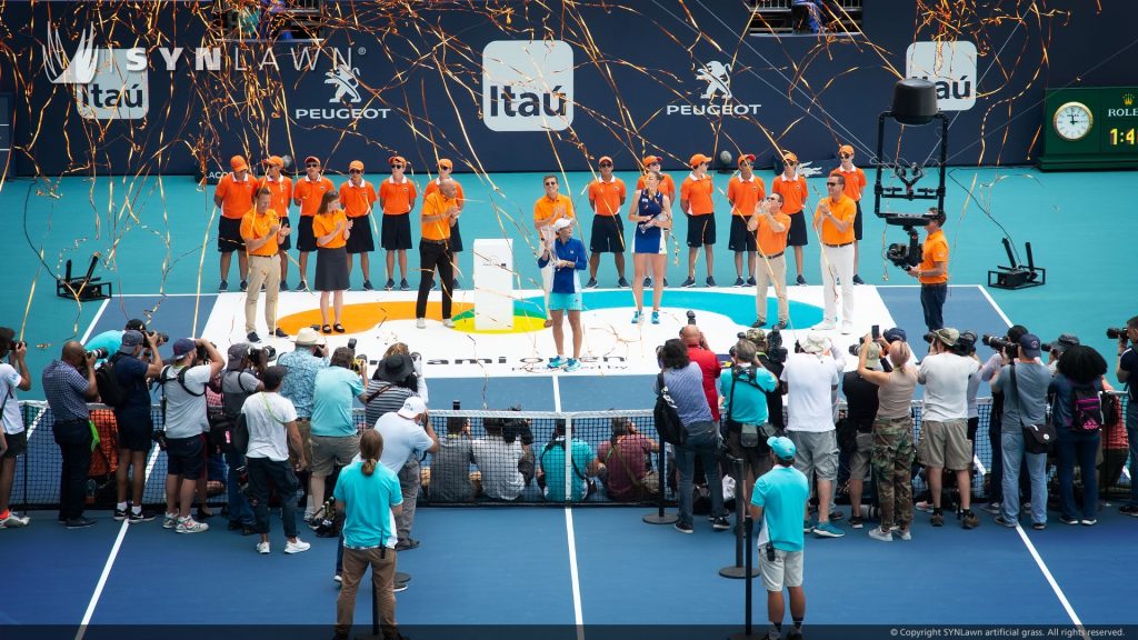
<path fill-rule="evenodd" d="M 492 131 L 563 131 L 574 118 L 572 47 L 495 40 L 483 49 L 483 122 Z"/>

